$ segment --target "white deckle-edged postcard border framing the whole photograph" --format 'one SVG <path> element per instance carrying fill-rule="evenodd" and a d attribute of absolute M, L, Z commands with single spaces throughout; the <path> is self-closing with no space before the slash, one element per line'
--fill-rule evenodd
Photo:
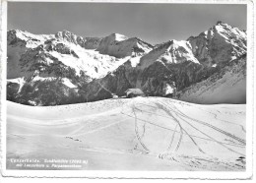
<path fill-rule="evenodd" d="M 9 0 L 24 2 L 23 0 Z M 26 0 L 32 2 L 32 0 Z M 34 2 L 34 1 L 33 1 Z M 40 0 L 36 2 L 56 2 Z M 87 178 L 151 178 L 151 179 L 218 179 L 250 180 L 255 172 L 255 125 L 254 118 L 254 10 L 253 0 L 154 0 L 154 1 L 117 1 L 117 0 L 61 0 L 58 2 L 126 2 L 126 3 L 204 3 L 204 4 L 246 4 L 247 5 L 247 104 L 246 104 L 246 171 L 98 171 L 98 170 L 9 170 L 6 169 L 6 55 L 7 55 L 7 0 L 1 0 L 1 173 L 11 177 L 87 177 Z"/>

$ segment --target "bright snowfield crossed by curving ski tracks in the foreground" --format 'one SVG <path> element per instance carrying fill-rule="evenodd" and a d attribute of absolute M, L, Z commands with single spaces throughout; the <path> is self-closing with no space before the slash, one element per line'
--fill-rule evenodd
<path fill-rule="evenodd" d="M 7 107 L 7 168 L 245 170 L 244 104 L 136 97 Z"/>

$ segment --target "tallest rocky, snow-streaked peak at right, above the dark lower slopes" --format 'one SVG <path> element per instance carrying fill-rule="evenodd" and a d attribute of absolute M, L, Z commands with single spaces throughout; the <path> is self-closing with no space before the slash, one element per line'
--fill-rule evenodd
<path fill-rule="evenodd" d="M 201 64 L 213 66 L 239 58 L 246 53 L 246 32 L 218 22 L 210 30 L 188 38 Z"/>

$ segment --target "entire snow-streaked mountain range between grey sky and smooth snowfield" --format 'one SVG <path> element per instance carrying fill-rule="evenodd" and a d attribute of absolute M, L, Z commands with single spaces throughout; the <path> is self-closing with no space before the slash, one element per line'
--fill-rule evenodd
<path fill-rule="evenodd" d="M 218 22 L 187 40 L 152 45 L 112 33 L 83 37 L 8 31 L 7 99 L 60 105 L 147 95 L 195 103 L 246 102 L 246 31 Z"/>

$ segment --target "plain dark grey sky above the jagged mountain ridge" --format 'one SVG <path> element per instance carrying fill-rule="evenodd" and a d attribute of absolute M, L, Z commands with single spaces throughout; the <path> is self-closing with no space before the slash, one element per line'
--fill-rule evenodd
<path fill-rule="evenodd" d="M 153 44 L 186 39 L 208 30 L 219 20 L 246 30 L 246 5 L 8 3 L 8 30 L 70 30 L 83 36 L 118 32 Z"/>

